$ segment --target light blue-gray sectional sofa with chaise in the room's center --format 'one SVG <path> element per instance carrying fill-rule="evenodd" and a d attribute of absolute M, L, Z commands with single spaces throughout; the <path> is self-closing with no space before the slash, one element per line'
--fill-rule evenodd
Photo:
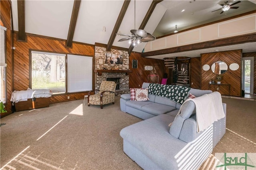
<path fill-rule="evenodd" d="M 143 83 L 142 88 L 147 88 Z M 210 90 L 190 89 L 196 97 Z M 143 169 L 198 169 L 226 133 L 226 117 L 197 133 L 196 106 L 188 101 L 181 105 L 149 94 L 149 101 L 130 101 L 130 94 L 120 98 L 122 111 L 144 119 L 120 131 L 124 152 Z M 226 104 L 223 104 L 226 114 Z M 168 125 L 172 122 L 171 127 Z"/>

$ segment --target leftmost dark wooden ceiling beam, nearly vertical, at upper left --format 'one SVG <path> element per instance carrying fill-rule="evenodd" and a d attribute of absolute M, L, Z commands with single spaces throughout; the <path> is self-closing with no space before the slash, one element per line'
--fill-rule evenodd
<path fill-rule="evenodd" d="M 25 0 L 18 0 L 18 37 L 17 41 L 26 41 L 25 33 Z"/>

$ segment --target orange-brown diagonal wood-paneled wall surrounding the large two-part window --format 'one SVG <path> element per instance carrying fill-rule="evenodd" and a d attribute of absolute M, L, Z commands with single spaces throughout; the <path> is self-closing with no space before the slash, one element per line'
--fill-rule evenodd
<path fill-rule="evenodd" d="M 65 47 L 65 41 L 28 35 L 27 42 L 16 41 L 14 33 L 14 90 L 26 90 L 29 87 L 29 50 L 40 50 L 54 53 L 94 56 L 94 45 L 73 43 L 72 48 Z M 52 96 L 50 103 L 83 99 L 85 93 Z"/>

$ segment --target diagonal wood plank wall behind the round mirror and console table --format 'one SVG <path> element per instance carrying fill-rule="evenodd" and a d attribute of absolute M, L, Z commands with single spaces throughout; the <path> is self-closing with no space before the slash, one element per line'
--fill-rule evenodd
<path fill-rule="evenodd" d="M 230 96 L 241 96 L 241 80 L 242 80 L 242 74 L 241 74 L 241 59 L 242 59 L 242 50 L 232 50 L 232 51 L 222 51 L 222 52 L 216 52 L 216 53 L 205 53 L 201 54 L 201 63 L 202 66 L 204 64 L 212 65 L 216 61 L 224 61 L 228 66 L 232 63 L 239 64 L 239 68 L 236 71 L 229 70 L 222 74 L 222 80 L 221 83 L 230 84 Z M 202 90 L 208 90 L 208 84 L 209 81 L 215 80 L 216 82 L 216 74 L 212 72 L 212 70 L 204 71 L 201 69 L 201 82 L 202 82 Z M 214 86 L 212 86 L 214 87 Z M 213 91 L 216 91 L 216 87 L 214 89 L 210 89 Z M 227 86 L 220 86 L 220 90 L 218 90 L 221 94 L 228 94 L 228 87 Z"/>

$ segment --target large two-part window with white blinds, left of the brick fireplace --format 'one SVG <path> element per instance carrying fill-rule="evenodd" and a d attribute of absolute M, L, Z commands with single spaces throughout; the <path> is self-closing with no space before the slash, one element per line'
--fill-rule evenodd
<path fill-rule="evenodd" d="M 92 57 L 31 51 L 31 67 L 32 89 L 54 94 L 92 90 Z"/>

